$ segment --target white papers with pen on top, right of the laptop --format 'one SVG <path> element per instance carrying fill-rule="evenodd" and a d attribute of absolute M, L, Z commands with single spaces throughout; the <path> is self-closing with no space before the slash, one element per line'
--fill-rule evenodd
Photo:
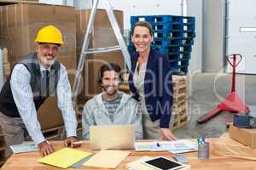
<path fill-rule="evenodd" d="M 181 139 L 176 141 L 137 142 L 135 143 L 135 149 L 137 151 L 173 151 L 182 153 L 197 150 L 197 145 L 188 139 Z"/>

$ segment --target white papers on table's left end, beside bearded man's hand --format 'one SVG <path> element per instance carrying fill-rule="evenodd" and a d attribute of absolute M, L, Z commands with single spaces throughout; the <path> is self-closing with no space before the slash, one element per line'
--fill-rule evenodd
<path fill-rule="evenodd" d="M 11 145 L 10 148 L 13 150 L 15 154 L 39 150 L 38 146 L 32 142 Z"/>

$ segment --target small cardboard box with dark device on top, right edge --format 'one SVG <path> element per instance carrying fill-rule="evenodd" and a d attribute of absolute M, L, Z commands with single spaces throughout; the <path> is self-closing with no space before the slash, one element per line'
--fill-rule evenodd
<path fill-rule="evenodd" d="M 230 138 L 250 148 L 256 148 L 256 129 L 239 128 L 230 125 Z"/>

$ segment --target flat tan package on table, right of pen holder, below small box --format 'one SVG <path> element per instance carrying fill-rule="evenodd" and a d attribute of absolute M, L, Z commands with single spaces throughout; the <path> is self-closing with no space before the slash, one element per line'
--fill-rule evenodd
<path fill-rule="evenodd" d="M 230 156 L 256 161 L 256 149 L 237 142 L 230 138 L 229 133 L 224 133 L 212 144 L 212 152 L 218 156 Z"/>

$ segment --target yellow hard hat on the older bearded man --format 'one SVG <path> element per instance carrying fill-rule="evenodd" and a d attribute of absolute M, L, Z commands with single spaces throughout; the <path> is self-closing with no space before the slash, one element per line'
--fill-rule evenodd
<path fill-rule="evenodd" d="M 55 26 L 44 26 L 38 31 L 35 42 L 58 43 L 63 44 L 61 31 Z"/>

